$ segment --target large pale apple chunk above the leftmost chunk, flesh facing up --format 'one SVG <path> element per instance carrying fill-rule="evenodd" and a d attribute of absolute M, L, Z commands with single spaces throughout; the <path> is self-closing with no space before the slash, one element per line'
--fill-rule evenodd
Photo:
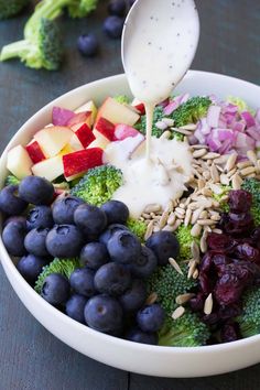
<path fill-rule="evenodd" d="M 71 140 L 73 131 L 67 127 L 52 126 L 36 132 L 34 139 L 47 158 L 56 155 Z"/>

